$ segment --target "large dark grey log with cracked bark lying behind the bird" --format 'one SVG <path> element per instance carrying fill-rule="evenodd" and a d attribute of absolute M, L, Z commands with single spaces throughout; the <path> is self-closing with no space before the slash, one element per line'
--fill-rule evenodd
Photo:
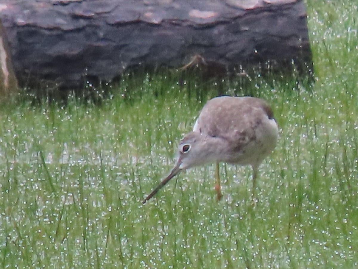
<path fill-rule="evenodd" d="M 294 59 L 312 67 L 301 0 L 0 0 L 21 86 L 82 86 L 138 66 L 238 65 Z"/>

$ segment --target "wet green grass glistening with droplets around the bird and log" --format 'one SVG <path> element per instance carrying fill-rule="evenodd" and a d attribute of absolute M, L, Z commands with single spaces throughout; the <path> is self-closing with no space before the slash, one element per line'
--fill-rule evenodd
<path fill-rule="evenodd" d="M 3 104 L 0 268 L 357 268 L 358 1 L 307 5 L 314 83 L 223 82 L 266 99 L 280 127 L 255 206 L 251 167 L 225 164 L 220 202 L 206 165 L 141 203 L 218 94 L 211 81 L 127 75 L 101 102 Z"/>

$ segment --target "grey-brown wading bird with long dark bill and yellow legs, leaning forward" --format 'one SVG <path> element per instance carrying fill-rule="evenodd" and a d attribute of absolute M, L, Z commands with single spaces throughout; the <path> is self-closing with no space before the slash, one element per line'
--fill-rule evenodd
<path fill-rule="evenodd" d="M 222 199 L 219 163 L 251 165 L 254 199 L 258 166 L 276 147 L 279 128 L 269 104 L 251 96 L 218 96 L 202 108 L 193 131 L 178 146 L 170 174 L 143 200 L 145 204 L 175 175 L 194 166 L 216 164 L 217 200 Z"/>

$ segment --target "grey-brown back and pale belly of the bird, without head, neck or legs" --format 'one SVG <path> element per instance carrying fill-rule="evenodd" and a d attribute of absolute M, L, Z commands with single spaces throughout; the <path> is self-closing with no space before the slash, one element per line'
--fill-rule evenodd
<path fill-rule="evenodd" d="M 278 137 L 269 105 L 262 99 L 248 96 L 221 96 L 209 100 L 193 131 L 227 141 L 229 147 L 223 150 L 222 161 L 238 164 L 253 164 L 256 159 L 261 162 L 275 148 Z"/>

